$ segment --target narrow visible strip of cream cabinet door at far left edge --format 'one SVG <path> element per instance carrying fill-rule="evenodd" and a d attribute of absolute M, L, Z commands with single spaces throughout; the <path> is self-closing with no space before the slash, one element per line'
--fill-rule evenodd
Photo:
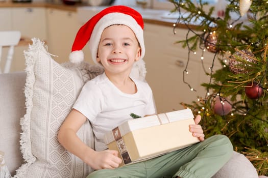
<path fill-rule="evenodd" d="M 11 8 L 0 8 L 0 31 L 10 31 L 11 29 Z"/>

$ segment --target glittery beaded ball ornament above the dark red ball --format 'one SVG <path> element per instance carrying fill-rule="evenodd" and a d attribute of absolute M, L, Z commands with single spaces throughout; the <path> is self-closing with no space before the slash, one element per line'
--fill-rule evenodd
<path fill-rule="evenodd" d="M 229 69 L 234 74 L 249 73 L 245 69 L 246 64 L 242 66 L 243 62 L 237 61 L 237 58 L 242 58 L 246 62 L 255 63 L 255 55 L 249 49 L 237 50 L 234 54 L 229 57 Z M 245 66 L 245 67 L 244 67 Z M 250 65 L 249 65 L 250 66 Z"/>

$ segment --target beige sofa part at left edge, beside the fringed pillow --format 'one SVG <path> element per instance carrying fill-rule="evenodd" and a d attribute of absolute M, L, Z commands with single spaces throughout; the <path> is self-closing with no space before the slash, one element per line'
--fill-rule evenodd
<path fill-rule="evenodd" d="M 0 150 L 11 174 L 22 164 L 20 118 L 26 113 L 24 87 L 26 72 L 0 74 Z"/>

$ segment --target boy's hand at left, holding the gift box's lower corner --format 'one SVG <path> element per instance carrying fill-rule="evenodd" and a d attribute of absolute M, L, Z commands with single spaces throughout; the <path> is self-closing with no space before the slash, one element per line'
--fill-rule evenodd
<path fill-rule="evenodd" d="M 118 152 L 115 150 L 94 152 L 90 158 L 88 164 L 95 170 L 114 169 L 122 162 L 122 160 L 118 158 Z"/>

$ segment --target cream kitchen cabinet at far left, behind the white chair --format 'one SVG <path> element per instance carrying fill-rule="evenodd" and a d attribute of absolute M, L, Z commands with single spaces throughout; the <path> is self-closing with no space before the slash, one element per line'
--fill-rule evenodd
<path fill-rule="evenodd" d="M 20 31 L 21 37 L 40 38 L 46 40 L 46 14 L 45 8 L 0 8 L 0 30 Z M 16 46 L 10 72 L 23 71 L 25 69 L 24 50 L 28 45 Z M 4 56 L 7 49 L 4 48 Z M 5 59 L 1 61 L 4 68 Z"/>

